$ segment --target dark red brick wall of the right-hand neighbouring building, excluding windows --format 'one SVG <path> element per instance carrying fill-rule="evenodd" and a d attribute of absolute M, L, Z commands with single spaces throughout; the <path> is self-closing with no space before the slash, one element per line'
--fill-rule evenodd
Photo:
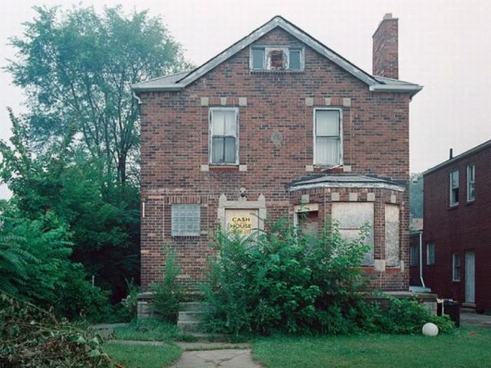
<path fill-rule="evenodd" d="M 476 200 L 467 202 L 466 166 L 476 165 Z M 450 172 L 459 170 L 459 205 L 450 207 Z M 436 243 L 436 264 L 424 280 L 440 297 L 464 301 L 465 252 L 476 254 L 476 305 L 491 309 L 491 147 L 424 176 L 424 257 Z M 461 257 L 461 280 L 452 282 L 452 253 Z"/>

